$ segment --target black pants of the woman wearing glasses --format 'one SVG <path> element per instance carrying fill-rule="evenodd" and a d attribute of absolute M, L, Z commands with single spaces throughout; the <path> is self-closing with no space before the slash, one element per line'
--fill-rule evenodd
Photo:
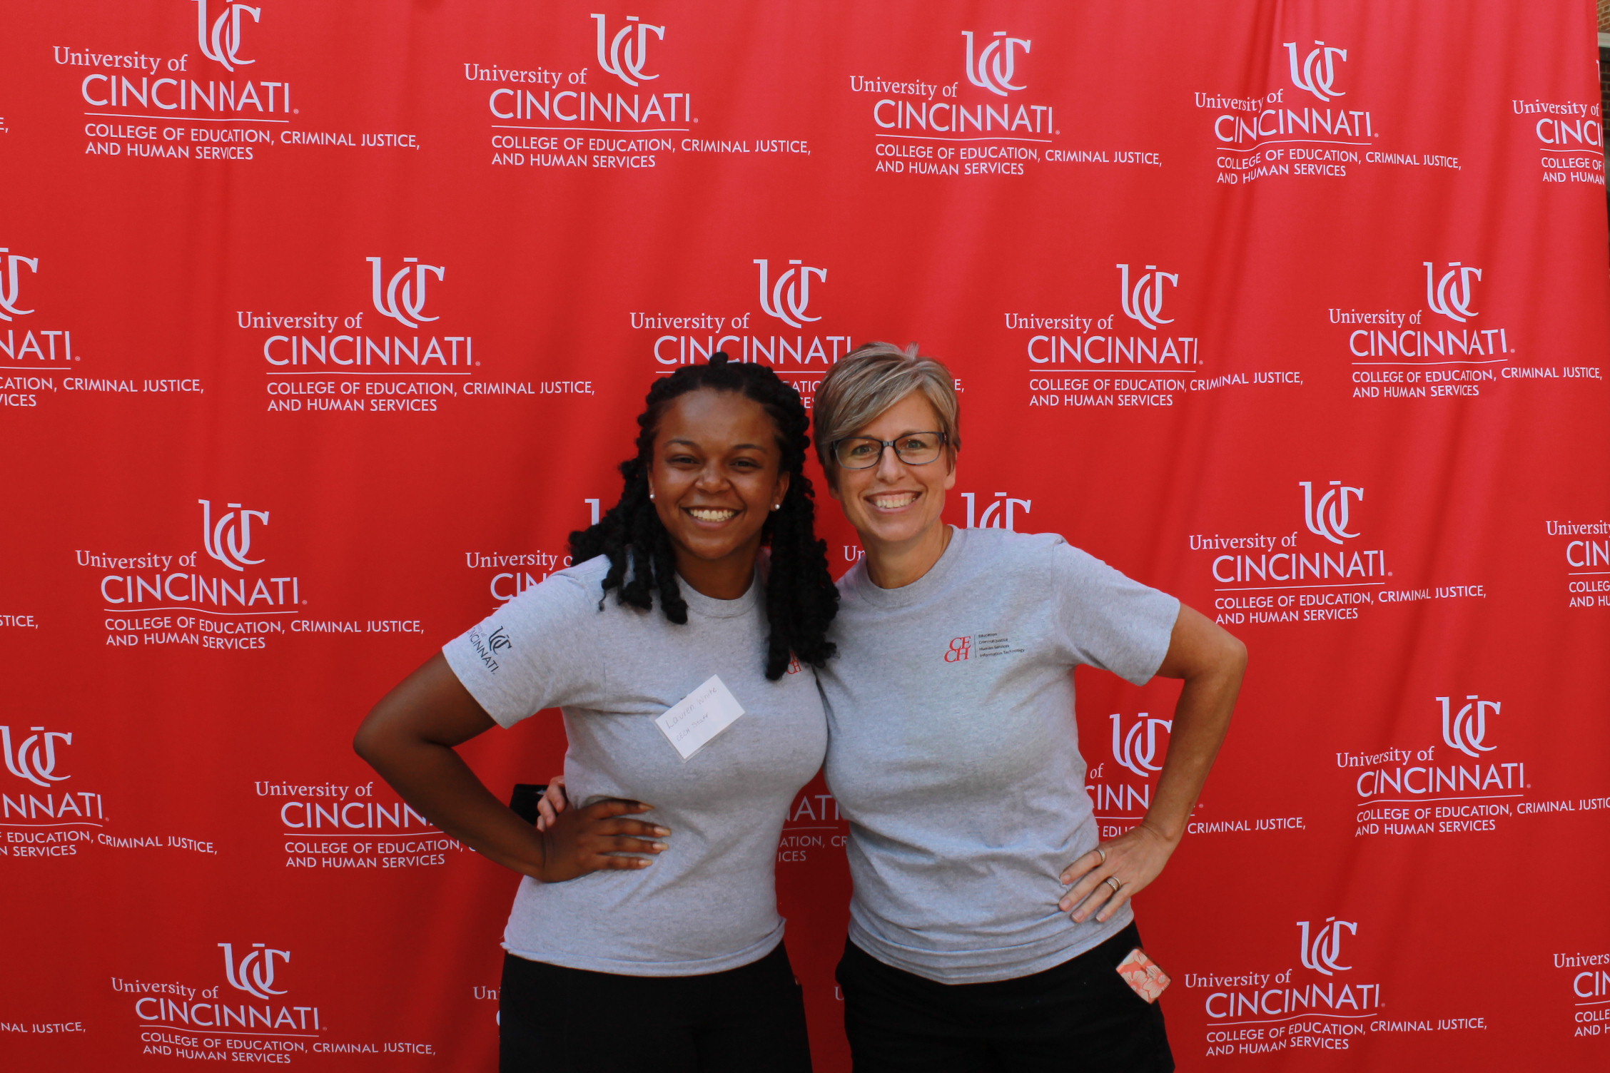
<path fill-rule="evenodd" d="M 855 1073 L 1169 1073 L 1162 1010 L 1117 975 L 1137 946 L 1129 925 L 1032 976 L 943 985 L 847 943 L 839 986 Z"/>

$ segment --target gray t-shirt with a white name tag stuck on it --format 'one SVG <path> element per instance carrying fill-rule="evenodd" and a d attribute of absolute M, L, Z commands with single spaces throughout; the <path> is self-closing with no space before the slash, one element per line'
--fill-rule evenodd
<path fill-rule="evenodd" d="M 747 965 L 782 939 L 774 869 L 794 796 L 828 745 L 810 668 L 768 682 L 760 581 L 737 600 L 681 582 L 687 624 L 599 610 L 604 557 L 559 571 L 443 653 L 464 687 L 509 727 L 564 711 L 565 783 L 575 806 L 633 798 L 671 828 L 647 869 L 565 883 L 520 882 L 504 949 L 531 960 L 631 976 L 687 976 Z M 712 674 L 744 713 L 686 763 L 654 719 Z"/>

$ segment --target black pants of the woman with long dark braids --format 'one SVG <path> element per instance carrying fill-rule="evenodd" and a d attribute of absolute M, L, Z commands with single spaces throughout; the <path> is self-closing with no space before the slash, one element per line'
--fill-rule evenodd
<path fill-rule="evenodd" d="M 805 1001 L 778 944 L 702 976 L 620 976 L 509 954 L 499 1073 L 810 1073 Z"/>

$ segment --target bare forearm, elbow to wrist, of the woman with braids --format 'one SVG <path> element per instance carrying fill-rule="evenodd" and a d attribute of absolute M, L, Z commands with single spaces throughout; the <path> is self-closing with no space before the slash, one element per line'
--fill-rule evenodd
<path fill-rule="evenodd" d="M 457 751 L 430 742 L 393 742 L 364 759 L 446 833 L 522 875 L 541 874 L 541 835 L 493 796 Z"/>

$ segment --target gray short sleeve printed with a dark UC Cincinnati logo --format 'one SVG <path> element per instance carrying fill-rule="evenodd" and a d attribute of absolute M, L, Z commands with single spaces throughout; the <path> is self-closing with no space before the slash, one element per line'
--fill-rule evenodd
<path fill-rule="evenodd" d="M 597 698 L 604 666 L 594 573 L 551 574 L 443 645 L 448 666 L 499 726 Z"/>

